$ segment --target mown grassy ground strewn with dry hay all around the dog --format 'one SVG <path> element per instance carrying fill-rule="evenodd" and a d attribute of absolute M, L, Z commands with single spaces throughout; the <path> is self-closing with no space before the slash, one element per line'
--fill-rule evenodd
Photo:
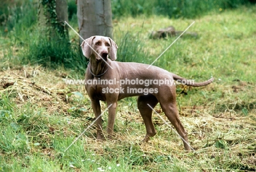
<path fill-rule="evenodd" d="M 240 7 L 195 20 L 138 16 L 114 21 L 118 61 L 147 64 L 176 39 L 149 39 L 151 31 L 170 25 L 183 31 L 195 21 L 189 31 L 199 37 L 178 39 L 154 63 L 196 81 L 216 78 L 207 87 L 177 87 L 179 114 L 195 152 L 185 152 L 181 139 L 155 114 L 158 133 L 140 144 L 146 129 L 136 98 L 119 102 L 114 141 L 95 141 L 92 126 L 65 152 L 94 117 L 84 86 L 62 80 L 83 79 L 84 69 L 22 62 L 37 38 L 26 38 L 33 26 L 17 31 L 21 41 L 16 31 L 1 33 L 0 171 L 255 171 L 255 10 Z M 78 40 L 73 32 L 69 38 Z M 159 105 L 155 109 L 161 111 Z M 107 113 L 104 128 L 106 121 Z"/>

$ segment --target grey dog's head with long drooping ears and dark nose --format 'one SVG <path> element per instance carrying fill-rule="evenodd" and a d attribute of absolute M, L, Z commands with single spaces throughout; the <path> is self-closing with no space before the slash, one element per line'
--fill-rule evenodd
<path fill-rule="evenodd" d="M 96 61 L 100 61 L 102 58 L 107 60 L 107 57 L 109 57 L 112 61 L 117 59 L 118 46 L 111 38 L 93 36 L 85 39 L 81 46 L 83 54 L 86 58 L 90 58 L 92 55 L 94 55 Z"/>

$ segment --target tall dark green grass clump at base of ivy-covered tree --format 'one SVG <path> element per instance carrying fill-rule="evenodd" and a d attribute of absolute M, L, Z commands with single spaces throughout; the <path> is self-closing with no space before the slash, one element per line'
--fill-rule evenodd
<path fill-rule="evenodd" d="M 40 35 L 33 35 L 33 40 L 28 41 L 28 48 L 22 55 L 23 64 L 42 64 L 45 67 L 63 65 L 65 68 L 82 69 L 85 60 L 79 54 L 78 46 L 70 45 L 67 39 L 56 38 L 56 41 L 49 41 L 48 38 Z"/>

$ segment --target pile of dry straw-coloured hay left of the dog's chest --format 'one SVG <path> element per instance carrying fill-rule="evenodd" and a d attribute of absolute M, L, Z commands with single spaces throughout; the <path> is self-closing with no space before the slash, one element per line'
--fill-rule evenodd
<path fill-rule="evenodd" d="M 0 93 L 13 100 L 18 107 L 27 102 L 48 111 L 66 112 L 71 108 L 66 95 L 77 91 L 66 85 L 62 74 L 48 72 L 42 67 L 22 67 L 0 72 Z"/>

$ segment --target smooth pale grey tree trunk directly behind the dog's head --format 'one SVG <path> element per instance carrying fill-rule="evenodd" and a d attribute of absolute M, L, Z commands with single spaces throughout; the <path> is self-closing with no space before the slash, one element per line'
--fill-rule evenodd
<path fill-rule="evenodd" d="M 80 35 L 112 37 L 112 10 L 110 0 L 77 0 Z M 80 40 L 82 42 L 82 40 Z"/>

